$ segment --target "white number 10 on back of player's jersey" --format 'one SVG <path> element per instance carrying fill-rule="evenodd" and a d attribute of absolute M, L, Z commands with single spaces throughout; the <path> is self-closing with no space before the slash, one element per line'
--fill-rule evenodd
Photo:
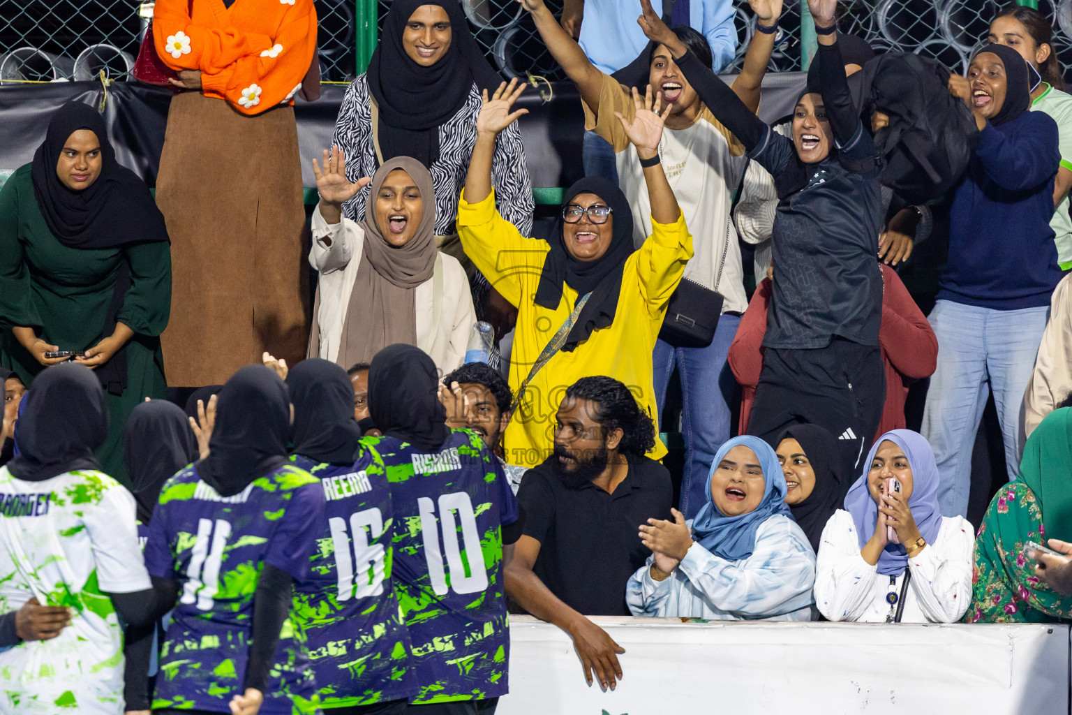
<path fill-rule="evenodd" d="M 440 519 L 436 525 L 435 502 L 427 496 L 417 500 L 420 510 L 420 532 L 425 539 L 425 558 L 428 561 L 428 576 L 436 596 L 445 596 L 450 591 L 456 594 L 475 594 L 488 587 L 488 571 L 480 549 L 480 534 L 476 527 L 473 502 L 465 492 L 440 495 Z M 465 546 L 465 561 L 458 543 L 458 522 L 461 522 L 462 541 Z M 440 550 L 440 527 L 443 528 L 443 551 Z M 443 568 L 443 554 L 447 555 L 450 569 L 450 586 L 447 586 Z"/>

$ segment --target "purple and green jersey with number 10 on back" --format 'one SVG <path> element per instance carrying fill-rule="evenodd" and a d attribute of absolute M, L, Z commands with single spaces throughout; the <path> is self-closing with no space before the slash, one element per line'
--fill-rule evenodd
<path fill-rule="evenodd" d="M 505 695 L 510 634 L 501 526 L 518 503 L 480 437 L 455 430 L 426 453 L 366 437 L 383 457 L 394 519 L 394 591 L 413 642 L 416 703 Z"/>

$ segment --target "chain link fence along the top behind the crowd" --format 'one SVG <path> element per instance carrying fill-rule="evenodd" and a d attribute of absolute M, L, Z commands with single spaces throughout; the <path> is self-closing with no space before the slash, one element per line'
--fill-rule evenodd
<path fill-rule="evenodd" d="M 326 80 L 345 81 L 359 71 L 358 3 L 376 2 L 379 23 L 390 0 L 315 0 L 319 18 L 321 72 Z M 461 0 L 470 26 L 489 59 L 505 76 L 528 73 L 563 79 L 533 26 L 516 0 Z M 549 0 L 562 11 L 562 0 Z M 728 71 L 740 69 L 755 32 L 746 0 L 734 0 L 740 46 Z M 859 34 L 877 49 L 934 57 L 964 72 L 972 48 L 986 36 L 998 0 L 844 0 L 838 26 Z M 0 0 L 0 81 L 88 79 L 101 70 L 125 79 L 137 55 L 146 19 L 136 0 Z M 1054 49 L 1063 70 L 1072 65 L 1072 0 L 1040 0 L 1054 21 Z M 783 33 L 772 71 L 800 70 L 801 14 L 798 0 L 787 0 Z"/>

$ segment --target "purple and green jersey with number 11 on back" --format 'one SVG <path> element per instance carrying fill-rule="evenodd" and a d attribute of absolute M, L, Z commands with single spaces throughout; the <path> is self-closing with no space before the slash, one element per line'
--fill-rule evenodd
<path fill-rule="evenodd" d="M 160 651 L 152 706 L 229 712 L 242 691 L 253 600 L 265 565 L 289 574 L 296 587 L 322 532 L 324 490 L 286 464 L 234 496 L 221 496 L 192 464 L 167 480 L 149 524 L 145 563 L 175 579 L 179 600 Z M 264 715 L 317 713 L 306 637 L 288 619 L 271 668 Z"/>

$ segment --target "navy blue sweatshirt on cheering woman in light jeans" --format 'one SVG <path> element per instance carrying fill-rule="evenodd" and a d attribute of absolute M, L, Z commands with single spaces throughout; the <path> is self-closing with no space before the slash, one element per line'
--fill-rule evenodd
<path fill-rule="evenodd" d="M 1057 123 L 1041 111 L 983 128 L 953 194 L 939 300 L 993 310 L 1049 304 L 1062 274 L 1049 226 L 1057 141 Z"/>

